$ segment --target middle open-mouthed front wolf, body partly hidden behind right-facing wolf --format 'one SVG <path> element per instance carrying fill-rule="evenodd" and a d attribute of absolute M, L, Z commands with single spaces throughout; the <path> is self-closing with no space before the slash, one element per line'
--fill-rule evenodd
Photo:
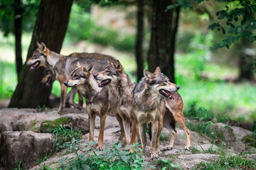
<path fill-rule="evenodd" d="M 157 71 L 157 70 L 156 70 Z M 159 71 L 159 70 L 158 70 Z M 129 120 L 134 120 L 132 114 L 133 111 L 133 92 L 135 88 L 135 83 L 131 81 L 129 76 L 124 72 L 122 64 L 117 60 L 115 64 L 110 62 L 107 67 L 102 71 L 95 75 L 95 79 L 100 80 L 99 86 L 109 86 L 110 94 L 115 98 L 118 103 L 119 108 L 124 111 L 127 111 L 130 115 L 129 117 L 122 116 L 123 119 L 129 118 Z M 183 118 L 183 101 L 178 92 L 170 92 L 170 99 L 166 98 L 166 113 L 164 114 L 164 127 L 167 128 L 171 134 L 169 145 L 167 149 L 172 149 L 174 147 L 174 142 L 176 139 L 176 130 L 175 125 L 176 122 L 183 128 L 187 135 L 188 144 L 186 145 L 186 149 L 191 147 L 191 138 L 190 132 L 184 123 Z M 127 121 L 127 120 L 126 120 Z M 125 122 L 125 120 L 122 120 Z M 137 142 L 137 133 L 134 132 L 134 126 L 136 123 L 132 123 L 132 138 L 130 144 Z M 127 126 L 126 126 L 127 127 Z M 124 131 L 129 131 L 124 130 Z M 121 133 L 122 134 L 122 133 Z M 134 134 L 134 135 L 133 135 Z M 122 140 L 122 135 L 119 137 L 119 140 Z"/>

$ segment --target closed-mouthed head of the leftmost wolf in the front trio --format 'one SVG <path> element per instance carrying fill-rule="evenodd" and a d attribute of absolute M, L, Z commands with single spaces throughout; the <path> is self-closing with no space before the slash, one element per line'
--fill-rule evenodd
<path fill-rule="evenodd" d="M 64 82 L 65 86 L 79 86 L 86 84 L 87 81 L 93 76 L 92 69 L 94 65 L 90 64 L 87 67 L 81 67 L 80 63 L 77 63 L 77 67 L 71 72 L 71 76 Z"/>

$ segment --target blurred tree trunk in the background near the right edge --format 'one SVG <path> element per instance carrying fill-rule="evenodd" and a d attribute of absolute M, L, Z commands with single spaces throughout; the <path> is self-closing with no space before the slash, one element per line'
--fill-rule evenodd
<path fill-rule="evenodd" d="M 242 37 L 240 42 L 240 56 L 239 56 L 239 78 L 238 80 L 253 79 L 252 74 L 252 42 L 250 39 Z"/>

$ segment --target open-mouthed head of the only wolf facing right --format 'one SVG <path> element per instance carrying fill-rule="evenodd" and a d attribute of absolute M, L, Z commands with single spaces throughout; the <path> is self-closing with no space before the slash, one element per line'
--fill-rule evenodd
<path fill-rule="evenodd" d="M 144 69 L 144 77 L 146 79 L 146 84 L 149 88 L 156 92 L 157 94 L 161 94 L 162 96 L 171 99 L 174 98 L 174 95 L 171 94 L 172 91 L 178 91 L 180 88 L 176 84 L 173 84 L 169 81 L 168 77 L 166 77 L 159 67 L 156 68 L 154 73 L 151 73 Z"/>

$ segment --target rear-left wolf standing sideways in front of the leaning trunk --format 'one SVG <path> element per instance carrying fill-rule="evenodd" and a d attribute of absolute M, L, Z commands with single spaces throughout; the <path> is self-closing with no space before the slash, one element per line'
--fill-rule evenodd
<path fill-rule="evenodd" d="M 67 95 L 67 87 L 64 85 L 64 81 L 70 77 L 70 73 L 75 69 L 77 62 L 80 62 L 83 66 L 94 63 L 94 72 L 96 73 L 105 68 L 108 64 L 107 60 L 115 61 L 111 56 L 97 53 L 84 52 L 78 57 L 75 56 L 78 55 L 78 53 L 73 53 L 70 56 L 63 56 L 57 52 L 50 51 L 43 42 L 41 44 L 37 43 L 37 45 L 38 48 L 33 52 L 32 57 L 26 61 L 26 64 L 31 65 L 30 69 L 36 69 L 38 67 L 49 69 L 60 82 L 61 93 L 58 112 L 62 111 L 65 107 L 64 101 Z"/>

